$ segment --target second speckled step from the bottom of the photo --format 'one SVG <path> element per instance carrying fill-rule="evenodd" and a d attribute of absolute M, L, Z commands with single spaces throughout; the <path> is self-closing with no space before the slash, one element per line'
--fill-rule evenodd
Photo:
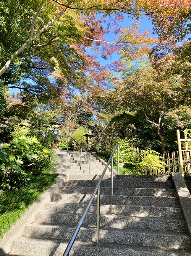
<path fill-rule="evenodd" d="M 42 225 L 37 225 L 38 227 Z M 31 236 L 26 236 L 24 239 L 18 239 L 14 242 L 13 250 L 16 251 L 17 248 L 24 249 L 26 247 L 26 242 L 39 238 L 40 241 L 45 240 L 46 243 L 48 240 L 51 240 L 51 236 L 55 239 L 55 234 L 57 234 L 60 239 L 57 241 L 62 242 L 62 239 L 70 239 L 74 231 L 74 226 L 60 226 L 57 230 L 56 226 L 51 226 L 52 231 L 50 231 L 49 225 L 44 225 L 44 231 L 39 229 L 34 229 L 31 231 Z M 32 228 L 32 227 L 31 227 Z M 29 230 L 28 230 L 29 232 Z M 38 232 L 38 233 L 37 233 Z M 77 240 L 83 239 L 83 241 L 93 241 L 96 242 L 96 228 L 86 228 L 82 227 L 79 230 Z M 165 247 L 171 249 L 189 249 L 190 248 L 190 238 L 186 233 L 164 233 L 163 231 L 147 231 L 147 230 L 135 230 L 135 229 L 126 229 L 121 230 L 118 228 L 102 228 L 100 229 L 100 243 L 119 243 L 119 244 L 128 244 L 128 245 L 139 245 L 139 246 L 154 246 L 154 247 Z M 35 248 L 32 248 L 32 253 L 36 251 L 39 253 L 41 249 L 38 248 L 37 244 Z M 21 249 L 19 249 L 21 250 Z M 26 249 L 24 249 L 26 251 Z M 29 250 L 29 248 L 28 248 Z M 17 250 L 18 251 L 18 250 Z M 86 254 L 87 255 L 87 254 Z"/>

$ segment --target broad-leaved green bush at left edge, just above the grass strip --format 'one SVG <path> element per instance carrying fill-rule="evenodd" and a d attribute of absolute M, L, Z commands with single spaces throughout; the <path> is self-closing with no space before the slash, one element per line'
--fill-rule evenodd
<path fill-rule="evenodd" d="M 45 148 L 34 137 L 21 136 L 0 149 L 0 188 L 8 189 L 28 183 L 28 172 L 53 169 L 54 150 Z"/>

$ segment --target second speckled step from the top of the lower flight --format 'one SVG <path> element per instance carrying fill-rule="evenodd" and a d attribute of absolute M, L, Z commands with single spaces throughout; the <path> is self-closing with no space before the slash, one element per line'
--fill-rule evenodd
<path fill-rule="evenodd" d="M 104 169 L 104 168 L 103 168 Z M 92 169 L 94 170 L 94 168 Z M 78 186 L 78 187 L 94 187 L 97 185 L 97 180 L 67 180 L 65 185 Z M 152 182 L 152 181 L 128 181 L 113 179 L 113 185 L 115 187 L 123 188 L 165 188 L 174 189 L 173 182 Z M 108 180 L 102 180 L 101 187 L 111 187 L 111 177 Z"/>

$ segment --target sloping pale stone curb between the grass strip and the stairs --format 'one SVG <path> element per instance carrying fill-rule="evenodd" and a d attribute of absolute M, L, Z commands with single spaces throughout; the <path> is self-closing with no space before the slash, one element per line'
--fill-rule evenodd
<path fill-rule="evenodd" d="M 0 241 L 0 256 L 12 251 L 13 241 L 22 235 L 25 235 L 26 225 L 31 224 L 36 220 L 36 213 L 45 210 L 45 203 L 49 203 L 52 199 L 52 193 L 58 193 L 59 187 L 64 185 L 65 180 L 69 179 L 69 173 L 63 172 L 57 177 L 57 183 L 52 185 L 45 191 L 40 198 L 38 198 L 31 206 L 29 206 L 26 213 L 20 220 L 8 231 L 8 234 Z"/>

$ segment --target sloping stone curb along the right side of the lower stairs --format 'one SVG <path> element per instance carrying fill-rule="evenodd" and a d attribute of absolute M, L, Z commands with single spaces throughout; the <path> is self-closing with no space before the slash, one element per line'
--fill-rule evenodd
<path fill-rule="evenodd" d="M 191 235 L 191 195 L 181 173 L 172 173 L 172 180 L 187 223 L 188 233 Z"/>

